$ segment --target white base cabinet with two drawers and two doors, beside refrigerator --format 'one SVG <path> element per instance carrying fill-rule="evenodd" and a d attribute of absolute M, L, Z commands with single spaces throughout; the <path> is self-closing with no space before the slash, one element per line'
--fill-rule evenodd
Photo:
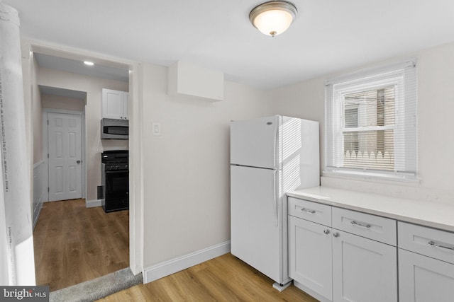
<path fill-rule="evenodd" d="M 289 275 L 295 286 L 322 302 L 397 301 L 395 220 L 288 201 Z"/>

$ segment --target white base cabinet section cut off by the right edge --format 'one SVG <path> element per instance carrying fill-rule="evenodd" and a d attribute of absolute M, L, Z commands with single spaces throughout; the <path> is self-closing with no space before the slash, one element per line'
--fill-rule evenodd
<path fill-rule="evenodd" d="M 399 222 L 399 301 L 454 297 L 454 233 Z"/>

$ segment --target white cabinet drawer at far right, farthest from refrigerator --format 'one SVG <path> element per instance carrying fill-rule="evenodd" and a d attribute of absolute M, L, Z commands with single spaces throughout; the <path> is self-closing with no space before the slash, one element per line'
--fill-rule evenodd
<path fill-rule="evenodd" d="M 399 221 L 399 248 L 454 264 L 454 233 Z"/>

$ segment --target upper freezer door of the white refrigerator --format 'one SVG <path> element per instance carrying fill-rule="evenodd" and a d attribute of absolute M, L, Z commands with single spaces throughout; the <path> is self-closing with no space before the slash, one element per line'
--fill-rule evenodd
<path fill-rule="evenodd" d="M 231 122 L 231 164 L 275 169 L 279 166 L 279 116 Z"/>

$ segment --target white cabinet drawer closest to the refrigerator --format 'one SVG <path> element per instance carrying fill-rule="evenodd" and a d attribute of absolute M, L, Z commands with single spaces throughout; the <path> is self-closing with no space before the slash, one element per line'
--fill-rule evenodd
<path fill-rule="evenodd" d="M 331 226 L 331 206 L 294 197 L 288 198 L 289 215 Z"/>

